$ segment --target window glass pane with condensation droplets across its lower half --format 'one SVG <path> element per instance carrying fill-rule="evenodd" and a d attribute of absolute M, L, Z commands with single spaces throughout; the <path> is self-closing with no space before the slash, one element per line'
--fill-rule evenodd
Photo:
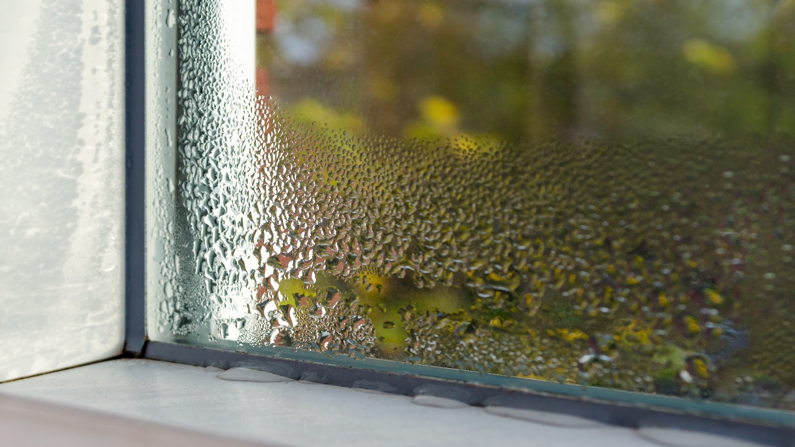
<path fill-rule="evenodd" d="M 795 3 L 181 7 L 153 338 L 795 407 Z"/>

